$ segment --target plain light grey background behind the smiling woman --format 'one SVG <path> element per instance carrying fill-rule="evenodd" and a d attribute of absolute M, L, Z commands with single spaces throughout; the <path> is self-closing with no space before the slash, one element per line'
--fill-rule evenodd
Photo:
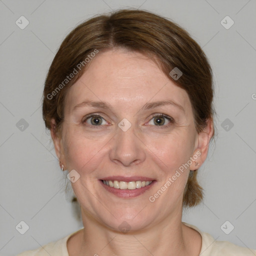
<path fill-rule="evenodd" d="M 81 228 L 42 121 L 43 82 L 77 23 L 122 7 L 171 18 L 208 56 L 218 134 L 199 170 L 204 201 L 185 211 L 183 221 L 217 240 L 256 247 L 255 0 L 0 0 L 0 255 L 37 248 Z M 29 21 L 24 29 L 15 24 L 21 15 Z M 234 21 L 229 29 L 220 23 L 226 15 Z M 16 126 L 21 118 L 28 123 L 23 130 Z M 29 226 L 23 235 L 15 229 L 21 220 Z M 229 234 L 220 229 L 226 220 L 234 226 Z"/>

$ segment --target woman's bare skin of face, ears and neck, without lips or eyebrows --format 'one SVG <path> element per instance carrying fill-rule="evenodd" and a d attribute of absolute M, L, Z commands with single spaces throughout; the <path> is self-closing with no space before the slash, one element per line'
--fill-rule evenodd
<path fill-rule="evenodd" d="M 73 110 L 85 100 L 105 101 L 111 108 L 84 105 Z M 184 111 L 174 105 L 142 109 L 158 100 L 175 101 Z M 103 118 L 100 125 L 86 119 L 90 113 Z M 157 126 L 152 115 L 161 113 L 174 122 L 160 117 Z M 131 123 L 127 131 L 117 125 L 123 118 Z M 186 91 L 154 61 L 124 49 L 99 52 L 66 95 L 61 134 L 51 130 L 64 169 L 80 175 L 72 187 L 85 228 L 68 239 L 69 255 L 199 255 L 200 234 L 181 222 L 183 191 L 189 169 L 198 168 L 195 162 L 154 202 L 148 198 L 196 152 L 196 161 L 203 163 L 212 131 L 209 120 L 196 132 Z M 111 175 L 140 175 L 156 182 L 139 196 L 120 198 L 99 182 Z M 118 228 L 123 221 L 130 226 L 126 233 Z"/>

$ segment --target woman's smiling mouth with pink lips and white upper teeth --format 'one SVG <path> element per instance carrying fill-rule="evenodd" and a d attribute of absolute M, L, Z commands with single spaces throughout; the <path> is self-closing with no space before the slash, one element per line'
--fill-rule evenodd
<path fill-rule="evenodd" d="M 118 197 L 138 196 L 152 187 L 155 179 L 141 176 L 111 176 L 99 179 L 103 187 Z"/>

